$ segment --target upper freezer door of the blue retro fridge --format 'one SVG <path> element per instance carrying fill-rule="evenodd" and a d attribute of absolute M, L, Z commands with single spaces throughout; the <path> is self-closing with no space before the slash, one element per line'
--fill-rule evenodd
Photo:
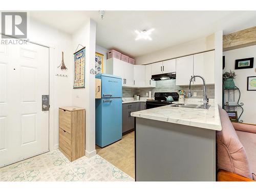
<path fill-rule="evenodd" d="M 101 98 L 122 97 L 122 79 L 101 76 Z"/>

